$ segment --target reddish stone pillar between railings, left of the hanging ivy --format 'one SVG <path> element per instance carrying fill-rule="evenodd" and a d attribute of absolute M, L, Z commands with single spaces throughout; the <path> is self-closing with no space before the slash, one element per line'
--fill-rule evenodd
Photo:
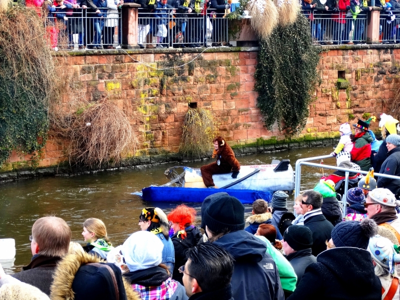
<path fill-rule="evenodd" d="M 122 5 L 122 48 L 138 48 L 137 45 L 137 8 L 140 4 L 123 3 Z"/>

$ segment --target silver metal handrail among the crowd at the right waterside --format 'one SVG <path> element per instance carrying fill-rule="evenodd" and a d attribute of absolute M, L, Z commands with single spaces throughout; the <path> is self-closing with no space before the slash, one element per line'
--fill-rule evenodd
<path fill-rule="evenodd" d="M 346 205 L 347 205 L 347 189 L 348 189 L 348 174 L 351 172 L 354 172 L 354 169 L 346 168 L 346 167 L 338 167 L 335 165 L 329 165 L 329 164 L 320 164 L 320 163 L 314 163 L 310 162 L 312 160 L 319 160 L 319 159 L 325 159 L 325 158 L 331 158 L 334 157 L 333 155 L 321 155 L 321 156 L 314 156 L 314 157 L 307 157 L 307 158 L 301 158 L 297 159 L 296 164 L 295 164 L 295 170 L 294 170 L 294 198 L 300 193 L 300 182 L 301 182 L 301 166 L 306 165 L 306 166 L 311 166 L 311 167 L 317 167 L 320 168 L 323 166 L 325 169 L 332 169 L 332 170 L 339 170 L 344 172 L 344 192 L 343 192 L 343 197 L 341 201 L 339 201 L 343 205 L 343 217 L 346 215 Z M 367 171 L 361 171 L 361 170 L 356 170 L 357 173 L 366 175 L 368 172 Z M 384 178 L 390 178 L 390 179 L 400 179 L 400 176 L 394 176 L 394 175 L 387 175 L 387 174 L 381 174 L 381 173 L 373 173 L 373 176 L 376 177 L 384 177 Z"/>

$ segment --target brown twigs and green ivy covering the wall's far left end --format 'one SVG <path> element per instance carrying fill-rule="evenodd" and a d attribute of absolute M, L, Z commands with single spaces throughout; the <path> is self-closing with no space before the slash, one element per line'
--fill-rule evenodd
<path fill-rule="evenodd" d="M 11 150 L 34 153 L 45 143 L 54 64 L 34 9 L 0 12 L 0 166 Z"/>

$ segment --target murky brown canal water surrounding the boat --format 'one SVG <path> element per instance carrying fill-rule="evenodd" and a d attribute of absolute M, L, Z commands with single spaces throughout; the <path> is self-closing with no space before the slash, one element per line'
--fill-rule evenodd
<path fill-rule="evenodd" d="M 332 147 L 313 147 L 238 156 L 242 165 L 270 163 L 272 159 L 290 159 L 294 169 L 299 158 L 325 155 Z M 199 167 L 211 160 L 185 163 Z M 334 158 L 325 164 L 334 164 Z M 72 240 L 84 245 L 82 223 L 88 217 L 104 221 L 113 245 L 119 245 L 135 231 L 138 216 L 145 206 L 158 206 L 168 213 L 177 203 L 144 202 L 131 192 L 150 184 L 161 185 L 169 180 L 164 170 L 179 163 L 154 165 L 142 169 L 101 171 L 70 177 L 41 177 L 0 183 L 0 238 L 14 238 L 16 255 L 12 265 L 4 265 L 7 273 L 17 272 L 31 258 L 29 235 L 33 222 L 45 215 L 63 218 L 72 230 Z M 326 169 L 325 169 L 326 171 Z M 322 170 L 302 167 L 300 189 L 312 188 Z M 293 199 L 290 197 L 289 204 Z M 200 203 L 191 203 L 199 215 Z M 289 205 L 288 205 L 289 206 Z M 246 205 L 246 214 L 251 205 Z M 199 218 L 197 219 L 199 224 Z"/>

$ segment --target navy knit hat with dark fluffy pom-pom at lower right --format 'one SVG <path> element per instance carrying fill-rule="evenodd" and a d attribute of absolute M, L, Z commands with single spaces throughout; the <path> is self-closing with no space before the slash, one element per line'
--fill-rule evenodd
<path fill-rule="evenodd" d="M 354 247 L 365 249 L 369 238 L 376 234 L 377 225 L 374 220 L 346 221 L 338 223 L 331 233 L 336 247 Z"/>

